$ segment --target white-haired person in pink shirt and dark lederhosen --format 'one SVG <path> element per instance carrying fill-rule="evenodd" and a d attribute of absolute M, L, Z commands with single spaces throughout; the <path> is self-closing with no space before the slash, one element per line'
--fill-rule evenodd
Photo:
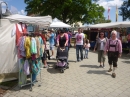
<path fill-rule="evenodd" d="M 117 68 L 117 61 L 118 57 L 121 57 L 122 54 L 122 44 L 117 37 L 117 31 L 113 30 L 111 32 L 111 38 L 107 41 L 105 48 L 104 48 L 104 54 L 108 51 L 108 63 L 110 65 L 110 69 L 108 72 L 112 71 L 112 65 L 113 65 L 113 73 L 112 77 L 116 77 L 115 69 Z"/>

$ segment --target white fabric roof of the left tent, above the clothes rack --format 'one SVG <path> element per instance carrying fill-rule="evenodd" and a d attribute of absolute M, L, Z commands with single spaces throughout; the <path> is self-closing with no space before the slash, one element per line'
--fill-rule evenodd
<path fill-rule="evenodd" d="M 49 26 L 52 23 L 51 16 L 30 17 L 30 16 L 15 14 L 5 18 L 9 19 L 12 22 L 23 22 L 23 23 L 43 25 L 43 26 L 44 25 Z"/>

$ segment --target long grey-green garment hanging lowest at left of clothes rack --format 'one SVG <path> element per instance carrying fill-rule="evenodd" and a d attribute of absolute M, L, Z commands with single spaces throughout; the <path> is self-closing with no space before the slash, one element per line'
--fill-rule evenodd
<path fill-rule="evenodd" d="M 24 59 L 19 59 L 19 85 L 26 84 L 27 75 L 24 73 Z"/>

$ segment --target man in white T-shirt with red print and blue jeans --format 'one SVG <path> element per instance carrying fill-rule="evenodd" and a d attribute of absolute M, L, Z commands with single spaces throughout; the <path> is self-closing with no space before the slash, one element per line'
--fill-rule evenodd
<path fill-rule="evenodd" d="M 82 33 L 82 29 L 78 29 L 78 33 L 75 35 L 75 43 L 74 46 L 76 47 L 76 55 L 77 55 L 77 61 L 83 60 L 83 45 L 84 45 L 84 34 Z M 80 57 L 79 58 L 79 51 L 80 51 Z"/>

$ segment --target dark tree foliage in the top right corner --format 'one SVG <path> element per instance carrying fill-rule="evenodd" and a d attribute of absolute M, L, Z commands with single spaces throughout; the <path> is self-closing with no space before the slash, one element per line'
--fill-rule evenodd
<path fill-rule="evenodd" d="M 122 16 L 122 20 L 130 20 L 130 0 L 124 1 L 122 6 L 119 8 L 119 15 Z"/>

